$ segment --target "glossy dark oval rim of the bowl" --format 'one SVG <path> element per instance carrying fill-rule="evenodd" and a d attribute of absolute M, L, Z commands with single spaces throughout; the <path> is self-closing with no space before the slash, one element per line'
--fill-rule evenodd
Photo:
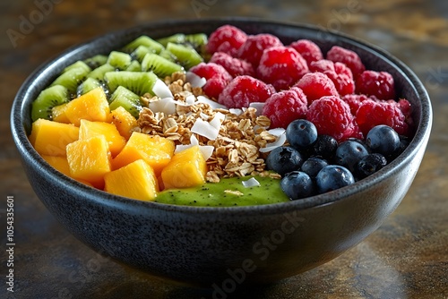
<path fill-rule="evenodd" d="M 196 206 L 186 206 L 186 205 L 175 205 L 166 204 L 152 201 L 139 201 L 130 198 L 125 198 L 122 196 L 110 194 L 108 192 L 97 190 L 88 185 L 79 183 L 78 181 L 65 176 L 58 172 L 55 168 L 49 166 L 47 162 L 40 157 L 39 153 L 30 145 L 28 140 L 26 129 L 23 125 L 22 111 L 25 108 L 24 99 L 30 97 L 30 92 L 35 85 L 34 81 L 39 78 L 45 78 L 46 73 L 49 72 L 48 68 L 54 64 L 60 64 L 61 61 L 65 60 L 65 56 L 75 55 L 76 53 L 82 52 L 85 48 L 89 47 L 90 44 L 96 40 L 104 39 L 108 40 L 114 38 L 116 35 L 123 35 L 127 32 L 132 32 L 133 30 L 148 30 L 151 28 L 158 27 L 168 27 L 168 26 L 189 26 L 192 24 L 201 23 L 245 23 L 245 24 L 256 24 L 262 22 L 263 25 L 272 26 L 283 26 L 293 29 L 306 29 L 306 30 L 321 30 L 324 34 L 328 34 L 329 37 L 349 41 L 357 47 L 364 47 L 370 51 L 374 51 L 376 56 L 380 56 L 383 60 L 386 60 L 389 64 L 392 64 L 397 70 L 407 77 L 407 79 L 412 83 L 412 88 L 418 94 L 421 102 L 421 113 L 418 128 L 414 134 L 414 137 L 409 142 L 408 147 L 401 153 L 401 155 L 392 160 L 386 167 L 383 167 L 378 172 L 373 175 L 369 175 L 368 178 L 360 180 L 355 184 L 351 184 L 347 187 L 342 187 L 338 190 L 332 192 L 326 192 L 323 194 L 314 195 L 306 199 L 271 203 L 264 205 L 251 205 L 251 206 L 235 206 L 235 207 L 196 207 Z M 336 39 L 335 39 L 336 40 Z M 16 144 L 22 156 L 22 163 L 29 161 L 30 163 L 36 163 L 36 167 L 39 171 L 43 171 L 49 175 L 49 178 L 56 181 L 57 184 L 64 184 L 65 189 L 71 192 L 79 193 L 82 198 L 89 201 L 95 202 L 100 205 L 115 206 L 123 209 L 134 209 L 134 211 L 142 212 L 142 209 L 157 209 L 165 210 L 170 212 L 182 212 L 182 213 L 194 213 L 194 214 L 244 214 L 248 215 L 260 215 L 260 214 L 271 214 L 272 212 L 286 213 L 292 210 L 301 209 L 314 209 L 335 202 L 343 201 L 349 198 L 356 192 L 366 190 L 369 187 L 381 183 L 383 180 L 387 179 L 389 176 L 400 171 L 402 167 L 410 162 L 420 150 L 421 147 L 426 147 L 426 142 L 429 138 L 429 134 L 432 126 L 432 107 L 430 103 L 429 96 L 423 85 L 423 83 L 418 79 L 418 76 L 407 66 L 402 63 L 397 57 L 392 56 L 389 52 L 383 50 L 381 47 L 377 47 L 370 42 L 367 42 L 361 38 L 350 36 L 346 33 L 334 30 L 325 30 L 318 26 L 309 23 L 300 23 L 292 21 L 273 21 L 269 19 L 251 18 L 251 17 L 222 17 L 222 18 L 202 18 L 199 20 L 169 20 L 169 21 L 152 21 L 146 24 L 134 26 L 131 28 L 123 30 L 115 30 L 107 34 L 97 36 L 95 38 L 90 38 L 89 40 L 82 42 L 81 44 L 74 45 L 73 47 L 68 47 L 65 51 L 61 52 L 54 58 L 50 58 L 47 62 L 41 64 L 34 72 L 30 73 L 30 76 L 23 81 L 21 88 L 18 90 L 11 109 L 10 124 L 13 133 L 13 141 Z"/>

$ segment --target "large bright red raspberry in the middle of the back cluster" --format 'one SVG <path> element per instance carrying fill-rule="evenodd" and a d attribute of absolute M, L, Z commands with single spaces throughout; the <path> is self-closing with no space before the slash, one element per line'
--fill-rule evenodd
<path fill-rule="evenodd" d="M 256 72 L 258 78 L 271 83 L 276 90 L 288 90 L 308 73 L 308 66 L 292 47 L 270 47 L 264 50 Z"/>

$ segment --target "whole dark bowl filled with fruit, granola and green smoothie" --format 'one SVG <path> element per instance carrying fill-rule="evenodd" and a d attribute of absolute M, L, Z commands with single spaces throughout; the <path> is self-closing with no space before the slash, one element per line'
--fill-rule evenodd
<path fill-rule="evenodd" d="M 259 54 L 251 39 L 264 45 Z M 328 118 L 340 109 L 339 121 Z M 372 121 L 387 111 L 389 123 Z M 206 286 L 288 278 L 361 242 L 408 192 L 431 123 L 422 83 L 382 49 L 254 19 L 165 21 L 95 38 L 31 74 L 11 115 L 31 186 L 73 235 L 116 261 Z M 365 156 L 375 157 L 359 167 Z"/>

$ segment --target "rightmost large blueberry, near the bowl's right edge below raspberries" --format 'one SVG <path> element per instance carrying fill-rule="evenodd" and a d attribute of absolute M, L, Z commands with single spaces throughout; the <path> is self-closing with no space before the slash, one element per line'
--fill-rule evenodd
<path fill-rule="evenodd" d="M 392 127 L 380 124 L 367 133 L 366 143 L 373 152 L 387 157 L 400 149 L 400 136 Z"/>

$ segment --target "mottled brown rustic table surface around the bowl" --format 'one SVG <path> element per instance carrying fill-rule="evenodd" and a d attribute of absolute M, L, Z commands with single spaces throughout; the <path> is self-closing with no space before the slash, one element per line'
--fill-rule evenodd
<path fill-rule="evenodd" d="M 213 298 L 210 289 L 172 284 L 101 257 L 70 235 L 31 190 L 9 114 L 22 81 L 67 47 L 149 21 L 230 15 L 312 23 L 383 47 L 425 83 L 435 118 L 409 193 L 374 234 L 322 267 L 269 286 L 240 286 L 228 298 L 448 298 L 445 0 L 0 2 L 1 298 Z M 15 208 L 13 293 L 5 278 L 8 196 Z"/>

